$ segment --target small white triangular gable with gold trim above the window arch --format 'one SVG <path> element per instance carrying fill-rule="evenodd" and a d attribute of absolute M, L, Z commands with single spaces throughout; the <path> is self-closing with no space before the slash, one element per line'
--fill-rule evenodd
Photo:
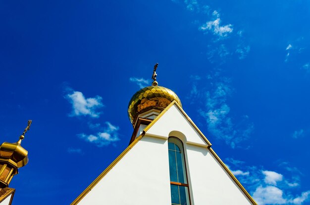
<path fill-rule="evenodd" d="M 186 136 L 188 144 L 210 147 L 211 143 L 188 117 L 176 101 L 170 103 L 145 129 L 145 134 L 168 137 L 171 131 L 179 131 Z"/>

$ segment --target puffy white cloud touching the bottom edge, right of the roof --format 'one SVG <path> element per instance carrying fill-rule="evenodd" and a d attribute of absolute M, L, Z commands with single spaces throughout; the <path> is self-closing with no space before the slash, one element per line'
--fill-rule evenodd
<path fill-rule="evenodd" d="M 287 200 L 283 198 L 283 191 L 274 186 L 259 186 L 253 193 L 253 198 L 258 205 L 283 205 Z"/>

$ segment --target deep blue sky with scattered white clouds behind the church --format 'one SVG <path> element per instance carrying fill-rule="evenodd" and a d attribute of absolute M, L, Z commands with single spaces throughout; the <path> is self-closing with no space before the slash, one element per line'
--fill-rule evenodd
<path fill-rule="evenodd" d="M 71 203 L 127 146 L 131 96 L 175 91 L 259 205 L 310 205 L 307 0 L 0 2 L 13 205 Z"/>

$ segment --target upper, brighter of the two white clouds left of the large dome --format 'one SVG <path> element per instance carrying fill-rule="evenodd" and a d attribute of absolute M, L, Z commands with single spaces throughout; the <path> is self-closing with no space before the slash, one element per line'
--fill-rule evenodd
<path fill-rule="evenodd" d="M 72 112 L 70 117 L 89 115 L 93 118 L 98 118 L 101 114 L 96 109 L 103 107 L 102 97 L 96 96 L 93 98 L 85 98 L 82 92 L 72 91 L 72 93 L 65 96 L 72 104 Z"/>

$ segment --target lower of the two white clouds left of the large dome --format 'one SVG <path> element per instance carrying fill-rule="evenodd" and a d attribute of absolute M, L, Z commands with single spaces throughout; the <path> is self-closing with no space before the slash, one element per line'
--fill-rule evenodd
<path fill-rule="evenodd" d="M 103 132 L 98 132 L 97 134 L 93 135 L 86 135 L 84 133 L 79 134 L 78 136 L 85 141 L 91 142 L 96 144 L 98 147 L 103 147 L 105 145 L 109 145 L 112 142 L 116 142 L 119 140 L 118 138 L 118 130 L 119 127 L 112 125 L 109 122 L 105 122 L 105 127 Z"/>

